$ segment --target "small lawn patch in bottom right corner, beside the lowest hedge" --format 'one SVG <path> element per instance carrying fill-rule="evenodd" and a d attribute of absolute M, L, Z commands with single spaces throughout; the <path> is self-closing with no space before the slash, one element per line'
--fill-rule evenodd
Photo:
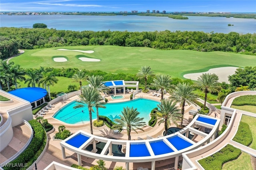
<path fill-rule="evenodd" d="M 222 166 L 222 170 L 253 170 L 250 161 L 250 155 L 246 152 L 242 154 L 235 160 L 229 161 Z"/>

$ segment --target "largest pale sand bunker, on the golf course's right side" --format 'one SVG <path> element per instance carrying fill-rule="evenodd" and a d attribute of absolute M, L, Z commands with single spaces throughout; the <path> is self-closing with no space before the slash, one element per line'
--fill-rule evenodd
<path fill-rule="evenodd" d="M 185 74 L 183 77 L 188 78 L 191 80 L 197 80 L 199 76 L 201 76 L 203 73 L 215 73 L 219 77 L 218 82 L 227 82 L 228 81 L 228 76 L 235 74 L 235 71 L 238 67 L 219 67 L 219 68 L 211 68 L 210 70 L 206 72 L 197 72 L 197 73 L 190 73 L 190 74 Z"/>

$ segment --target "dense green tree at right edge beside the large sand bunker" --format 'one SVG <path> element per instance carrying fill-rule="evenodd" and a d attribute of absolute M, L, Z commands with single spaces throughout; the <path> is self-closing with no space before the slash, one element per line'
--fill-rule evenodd
<path fill-rule="evenodd" d="M 236 69 L 235 74 L 228 77 L 232 86 L 248 86 L 250 89 L 256 88 L 256 66 L 246 66 Z"/>

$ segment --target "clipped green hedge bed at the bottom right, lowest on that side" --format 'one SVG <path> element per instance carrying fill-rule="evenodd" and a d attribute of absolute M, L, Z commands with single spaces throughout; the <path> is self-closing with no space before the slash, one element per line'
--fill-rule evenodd
<path fill-rule="evenodd" d="M 216 152 L 207 158 L 198 160 L 198 162 L 205 170 L 221 170 L 224 163 L 237 159 L 241 153 L 240 149 L 228 144 L 219 152 Z"/>

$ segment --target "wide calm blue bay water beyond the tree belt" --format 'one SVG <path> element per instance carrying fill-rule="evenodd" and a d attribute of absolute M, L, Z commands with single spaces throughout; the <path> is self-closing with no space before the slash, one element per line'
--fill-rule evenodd
<path fill-rule="evenodd" d="M 154 16 L 8 16 L 0 15 L 0 27 L 32 28 L 45 23 L 48 28 L 72 31 L 204 31 L 214 33 L 256 33 L 256 20 L 225 17 L 188 16 L 188 20 L 174 20 Z M 234 26 L 228 26 L 228 24 Z"/>

